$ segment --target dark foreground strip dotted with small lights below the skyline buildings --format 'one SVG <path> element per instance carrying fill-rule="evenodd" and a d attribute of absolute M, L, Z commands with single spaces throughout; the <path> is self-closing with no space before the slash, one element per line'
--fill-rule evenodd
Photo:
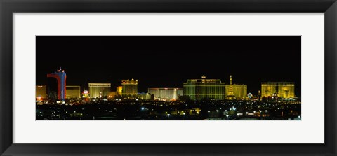
<path fill-rule="evenodd" d="M 301 120 L 300 102 L 101 101 L 37 105 L 37 120 Z"/>

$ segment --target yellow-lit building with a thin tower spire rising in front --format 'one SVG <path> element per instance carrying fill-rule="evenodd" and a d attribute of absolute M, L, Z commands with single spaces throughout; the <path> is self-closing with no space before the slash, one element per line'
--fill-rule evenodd
<path fill-rule="evenodd" d="M 230 85 L 225 85 L 226 99 L 246 99 L 247 85 L 232 84 L 230 76 Z"/>

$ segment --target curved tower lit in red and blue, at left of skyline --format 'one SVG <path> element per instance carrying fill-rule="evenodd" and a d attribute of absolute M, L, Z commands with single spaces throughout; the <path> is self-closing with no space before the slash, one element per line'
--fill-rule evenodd
<path fill-rule="evenodd" d="M 64 100 L 65 99 L 65 82 L 67 75 L 65 74 L 65 70 L 55 71 L 53 73 L 47 74 L 48 78 L 48 85 L 47 85 L 47 94 L 48 99 L 58 99 Z"/>

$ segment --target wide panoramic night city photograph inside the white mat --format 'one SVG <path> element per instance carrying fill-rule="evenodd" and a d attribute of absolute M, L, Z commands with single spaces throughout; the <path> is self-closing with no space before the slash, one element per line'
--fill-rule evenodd
<path fill-rule="evenodd" d="M 301 36 L 36 36 L 36 120 L 301 120 Z"/>

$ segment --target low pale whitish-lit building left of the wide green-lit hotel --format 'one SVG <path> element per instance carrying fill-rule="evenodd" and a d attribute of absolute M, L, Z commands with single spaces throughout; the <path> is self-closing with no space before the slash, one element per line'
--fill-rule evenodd
<path fill-rule="evenodd" d="M 172 88 L 172 87 L 163 87 L 163 88 L 148 88 L 147 92 L 154 95 L 154 99 L 159 99 L 162 101 L 169 101 L 178 99 L 179 96 L 183 95 L 183 88 Z"/>

